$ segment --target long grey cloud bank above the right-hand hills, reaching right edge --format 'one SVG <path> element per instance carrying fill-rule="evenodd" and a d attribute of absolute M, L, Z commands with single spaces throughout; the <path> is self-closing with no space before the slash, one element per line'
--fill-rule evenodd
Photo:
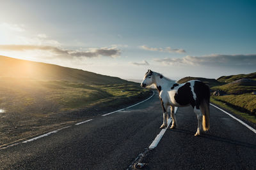
<path fill-rule="evenodd" d="M 154 59 L 154 61 L 172 66 L 256 66 L 256 54 L 212 54 L 201 57 L 187 55 L 182 58 Z"/>

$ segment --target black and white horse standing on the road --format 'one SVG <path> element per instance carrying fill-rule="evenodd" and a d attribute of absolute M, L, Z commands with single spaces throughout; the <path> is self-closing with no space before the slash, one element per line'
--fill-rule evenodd
<path fill-rule="evenodd" d="M 177 120 L 174 114 L 175 107 L 192 106 L 196 114 L 198 125 L 195 136 L 202 133 L 202 129 L 208 131 L 210 128 L 210 89 L 209 86 L 199 80 L 191 80 L 186 83 L 175 83 L 166 78 L 163 74 L 156 73 L 148 69 L 145 74 L 141 87 L 146 88 L 156 85 L 159 91 L 159 99 L 163 108 L 163 124 L 161 129 L 167 127 L 168 113 L 167 108 L 171 108 L 172 126 L 177 127 Z"/>

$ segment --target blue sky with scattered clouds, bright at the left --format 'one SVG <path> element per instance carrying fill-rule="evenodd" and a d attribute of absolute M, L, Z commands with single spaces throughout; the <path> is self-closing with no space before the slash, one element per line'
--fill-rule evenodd
<path fill-rule="evenodd" d="M 256 1 L 0 3 L 0 55 L 124 79 L 256 71 Z"/>

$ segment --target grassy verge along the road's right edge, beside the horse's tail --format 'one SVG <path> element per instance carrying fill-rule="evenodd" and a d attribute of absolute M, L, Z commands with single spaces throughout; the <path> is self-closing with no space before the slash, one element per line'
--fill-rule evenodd
<path fill-rule="evenodd" d="M 224 97 L 224 96 L 220 96 Z M 220 106 L 221 108 L 230 111 L 239 117 L 244 118 L 245 120 L 252 122 L 253 124 L 256 124 L 256 115 L 253 115 L 252 113 L 248 113 L 247 111 L 239 111 L 237 108 L 234 108 L 233 104 L 228 103 L 227 101 L 223 101 L 220 99 L 220 97 L 211 97 L 211 103 L 216 104 Z"/>

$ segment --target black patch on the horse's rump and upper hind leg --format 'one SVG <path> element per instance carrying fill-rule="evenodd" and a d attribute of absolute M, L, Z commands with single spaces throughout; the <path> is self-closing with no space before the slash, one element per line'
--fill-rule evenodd
<path fill-rule="evenodd" d="M 210 102 L 210 88 L 202 81 L 195 81 L 194 92 L 196 94 L 196 109 L 200 109 L 199 106 L 202 101 L 206 100 L 207 103 Z"/>

